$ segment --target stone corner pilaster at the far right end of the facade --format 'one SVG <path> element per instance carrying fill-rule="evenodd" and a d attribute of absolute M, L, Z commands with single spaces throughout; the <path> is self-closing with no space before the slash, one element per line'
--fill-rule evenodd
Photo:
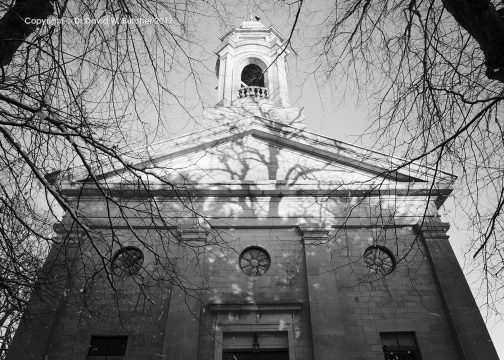
<path fill-rule="evenodd" d="M 449 224 L 427 218 L 416 226 L 428 251 L 434 277 L 464 360 L 498 360 L 483 318 L 446 234 Z"/>

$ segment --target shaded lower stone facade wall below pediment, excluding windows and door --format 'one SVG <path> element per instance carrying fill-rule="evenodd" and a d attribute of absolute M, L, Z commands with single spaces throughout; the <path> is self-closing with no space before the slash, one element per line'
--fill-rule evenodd
<path fill-rule="evenodd" d="M 168 227 L 149 227 L 148 217 L 131 211 L 129 224 L 115 219 L 112 233 L 103 207 L 95 205 L 89 213 L 94 215 L 96 237 L 90 242 L 71 233 L 74 260 L 66 285 L 55 290 L 58 300 L 46 309 L 50 316 L 45 323 L 25 322 L 20 328 L 20 334 L 28 335 L 24 339 L 37 333 L 47 336 L 33 347 L 17 336 L 9 359 L 85 358 L 91 336 L 126 335 L 127 359 L 218 360 L 224 339 L 257 333 L 260 339 L 267 334 L 287 339 L 291 360 L 335 355 L 371 360 L 383 356 L 380 332 L 399 331 L 415 332 L 423 359 L 468 359 L 464 351 L 476 347 L 461 350 L 457 319 L 447 311 L 450 283 L 448 278 L 441 279 L 443 283 L 442 274 L 434 271 L 437 265 L 432 265 L 433 254 L 437 256 L 433 246 L 439 241 L 446 248 L 445 230 L 431 231 L 426 248 L 425 236 L 413 228 L 417 218 L 409 213 L 393 214 L 376 206 L 386 215 L 377 220 L 379 213 L 363 203 L 338 225 L 343 217 L 330 219 L 327 214 L 343 214 L 337 210 L 340 201 L 325 201 L 321 219 L 316 216 L 322 213 L 317 211 L 320 203 L 308 200 L 284 199 L 282 206 L 290 204 L 292 215 L 279 216 L 271 211 L 279 208 L 278 201 L 256 199 L 255 205 L 269 204 L 265 217 L 235 201 L 234 208 L 242 210 L 226 218 L 225 211 L 215 209 L 233 208 L 233 199 L 218 198 L 206 207 L 217 225 L 209 233 L 189 223 L 191 217 L 181 216 L 183 211 L 166 212 Z M 415 208 L 424 208 L 420 199 L 415 201 Z M 307 209 L 306 204 L 310 212 L 296 217 L 297 209 Z M 328 212 L 328 204 L 334 211 Z M 165 205 L 165 211 L 171 209 Z M 135 235 L 128 226 L 137 227 Z M 135 277 L 111 282 L 110 263 L 102 260 L 119 244 L 141 248 L 144 269 Z M 373 244 L 388 247 L 397 260 L 386 277 L 370 273 L 363 261 L 364 251 Z M 240 270 L 239 256 L 248 246 L 269 253 L 271 267 L 264 275 L 249 277 Z M 443 254 L 453 261 L 452 253 Z M 456 291 L 450 292 L 456 296 Z M 479 319 L 478 329 L 484 329 L 475 305 L 464 306 L 463 311 L 469 309 Z M 489 349 L 487 358 L 495 355 L 491 343 L 477 346 Z"/>

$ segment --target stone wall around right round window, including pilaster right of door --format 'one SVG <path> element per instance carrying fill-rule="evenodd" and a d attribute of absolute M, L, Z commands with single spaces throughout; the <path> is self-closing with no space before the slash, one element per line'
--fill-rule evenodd
<path fill-rule="evenodd" d="M 415 332 L 424 359 L 459 359 L 426 256 L 411 227 L 338 229 L 306 245 L 314 352 L 350 359 L 383 357 L 380 332 Z M 386 245 L 398 261 L 385 277 L 368 272 L 362 254 Z"/>

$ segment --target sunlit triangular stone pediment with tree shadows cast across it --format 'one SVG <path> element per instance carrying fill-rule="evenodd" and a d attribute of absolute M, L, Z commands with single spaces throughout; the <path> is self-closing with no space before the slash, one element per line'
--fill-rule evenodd
<path fill-rule="evenodd" d="M 148 184 L 259 186 L 276 182 L 300 189 L 365 188 L 428 183 L 434 177 L 431 169 L 405 160 L 256 116 L 158 143 L 145 152 L 149 161 L 134 167 Z M 130 177 L 130 172 L 116 169 L 101 179 L 128 183 Z M 438 174 L 436 182 L 448 184 L 453 179 Z"/>

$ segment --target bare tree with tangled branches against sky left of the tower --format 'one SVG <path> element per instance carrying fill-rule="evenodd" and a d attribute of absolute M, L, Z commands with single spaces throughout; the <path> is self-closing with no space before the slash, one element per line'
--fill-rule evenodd
<path fill-rule="evenodd" d="M 182 68 L 196 97 L 201 90 L 196 69 L 203 64 L 190 55 L 201 48 L 192 31 L 196 17 L 221 10 L 204 6 L 129 0 L 0 4 L 0 253 L 5 259 L 0 358 L 29 294 L 35 288 L 39 295 L 51 295 L 51 286 L 61 289 L 42 267 L 49 252 L 48 263 L 71 261 L 70 254 L 58 253 L 70 245 L 55 244 L 52 224 L 65 213 L 72 219 L 67 226 L 80 228 L 89 239 L 95 234 L 60 185 L 88 181 L 122 216 L 131 209 L 112 198 L 99 175 L 121 167 L 132 175 L 130 181 L 147 186 L 139 179 L 149 169 L 132 164 L 148 154 L 134 150 L 166 131 L 167 107 L 185 106 L 183 91 L 171 85 L 180 83 L 173 77 Z M 151 206 L 151 221 L 157 221 L 156 205 L 145 204 Z M 190 203 L 181 204 L 191 211 Z M 97 268 L 105 266 L 110 281 L 111 259 L 100 252 L 98 257 Z M 174 282 L 184 286 L 181 278 Z"/>

